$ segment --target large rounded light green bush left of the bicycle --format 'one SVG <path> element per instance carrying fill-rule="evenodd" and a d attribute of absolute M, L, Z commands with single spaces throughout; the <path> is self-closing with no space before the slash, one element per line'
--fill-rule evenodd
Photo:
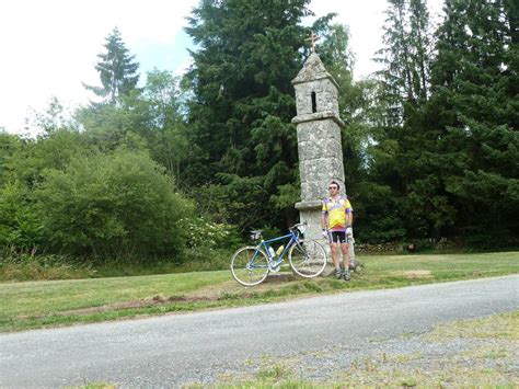
<path fill-rule="evenodd" d="M 35 196 L 54 251 L 153 258 L 178 253 L 185 244 L 178 221 L 191 207 L 146 153 L 78 157 L 44 178 Z"/>

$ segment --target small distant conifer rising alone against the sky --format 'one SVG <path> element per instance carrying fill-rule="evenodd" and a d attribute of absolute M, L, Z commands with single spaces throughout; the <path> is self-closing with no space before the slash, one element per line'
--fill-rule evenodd
<path fill-rule="evenodd" d="M 118 105 L 136 88 L 139 64 L 129 55 L 117 27 L 106 37 L 104 47 L 106 52 L 97 55 L 100 60 L 95 65 L 103 87 L 83 85 L 108 104 Z"/>

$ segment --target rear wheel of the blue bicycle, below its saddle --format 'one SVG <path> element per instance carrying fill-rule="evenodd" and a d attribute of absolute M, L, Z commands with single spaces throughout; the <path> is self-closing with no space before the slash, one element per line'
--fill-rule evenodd
<path fill-rule="evenodd" d="M 252 245 L 239 249 L 232 255 L 231 273 L 243 286 L 261 284 L 268 275 L 267 254 Z"/>

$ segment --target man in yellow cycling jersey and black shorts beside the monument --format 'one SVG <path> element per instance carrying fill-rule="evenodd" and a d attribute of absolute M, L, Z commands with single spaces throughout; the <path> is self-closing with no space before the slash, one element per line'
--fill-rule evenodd
<path fill-rule="evenodd" d="M 338 194 L 339 185 L 332 181 L 328 185 L 330 197 L 323 199 L 321 226 L 323 237 L 330 242 L 335 277 L 341 278 L 339 248 L 343 252 L 344 279 L 349 281 L 348 239 L 353 239 L 353 208 L 346 196 Z"/>

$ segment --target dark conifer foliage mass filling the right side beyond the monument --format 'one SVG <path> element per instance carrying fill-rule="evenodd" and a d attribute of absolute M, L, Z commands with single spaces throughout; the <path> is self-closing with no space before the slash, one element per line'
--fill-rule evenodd
<path fill-rule="evenodd" d="M 507 4 L 447 1 L 435 58 L 425 56 L 432 50 L 424 4 L 390 2 L 379 73 L 387 121 L 368 181 L 391 187 L 407 238 L 514 244 L 517 43 Z"/>

